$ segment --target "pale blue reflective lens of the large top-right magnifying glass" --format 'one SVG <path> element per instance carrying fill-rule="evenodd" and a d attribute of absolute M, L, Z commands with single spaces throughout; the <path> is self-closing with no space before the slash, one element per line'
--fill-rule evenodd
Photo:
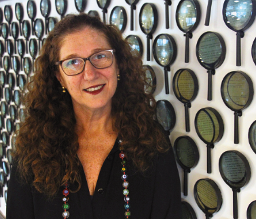
<path fill-rule="evenodd" d="M 253 3 L 251 0 L 228 1 L 225 8 L 227 23 L 236 31 L 242 30 L 250 21 L 253 14 Z"/>

